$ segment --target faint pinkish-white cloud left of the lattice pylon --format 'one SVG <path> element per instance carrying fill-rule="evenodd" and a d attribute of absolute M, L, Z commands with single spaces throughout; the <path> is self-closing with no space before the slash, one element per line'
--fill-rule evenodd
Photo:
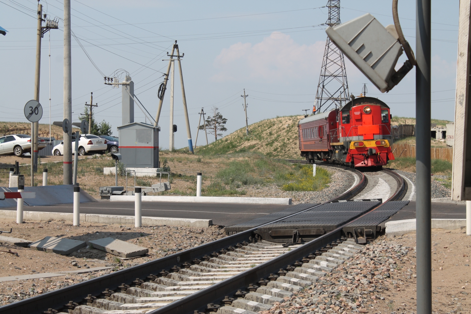
<path fill-rule="evenodd" d="M 318 77 L 325 41 L 300 45 L 291 36 L 273 32 L 261 42 L 238 42 L 223 48 L 214 61 L 213 81 L 290 81 Z"/>

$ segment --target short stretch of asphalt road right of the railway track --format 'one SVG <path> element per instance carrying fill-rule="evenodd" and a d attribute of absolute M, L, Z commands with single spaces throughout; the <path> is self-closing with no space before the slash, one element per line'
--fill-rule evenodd
<path fill-rule="evenodd" d="M 415 201 L 411 201 L 388 221 L 414 218 Z M 432 202 L 432 218 L 466 219 L 466 205 L 446 202 Z"/>

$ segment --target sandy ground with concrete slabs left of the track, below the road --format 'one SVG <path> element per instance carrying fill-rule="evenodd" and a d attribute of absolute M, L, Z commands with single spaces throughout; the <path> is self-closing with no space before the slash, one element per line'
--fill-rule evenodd
<path fill-rule="evenodd" d="M 37 241 L 45 236 L 59 236 L 69 239 L 90 241 L 113 237 L 149 249 L 149 253 L 138 258 L 123 259 L 104 251 L 83 248 L 68 256 L 47 253 L 28 248 L 17 247 L 0 242 L 0 250 L 12 250 L 13 254 L 0 252 L 0 277 L 26 275 L 34 273 L 53 273 L 59 271 L 88 269 L 93 267 L 113 267 L 98 272 L 84 274 L 66 274 L 60 277 L 0 282 L 0 305 L 35 296 L 50 290 L 109 274 L 116 270 L 136 266 L 149 260 L 186 250 L 203 243 L 211 242 L 225 236 L 218 226 L 209 228 L 189 228 L 170 226 L 144 226 L 135 228 L 126 225 L 104 225 L 84 223 L 79 227 L 64 221 L 31 222 L 17 225 L 13 220 L 0 223 L 0 230 L 11 234 L 2 235 Z M 76 266 L 74 266 L 76 263 Z"/>

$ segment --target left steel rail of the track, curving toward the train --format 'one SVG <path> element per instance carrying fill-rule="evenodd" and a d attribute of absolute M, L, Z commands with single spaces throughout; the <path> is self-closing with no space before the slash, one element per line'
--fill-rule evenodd
<path fill-rule="evenodd" d="M 365 187 L 365 175 L 356 170 L 350 169 L 343 166 L 338 165 L 329 165 L 337 168 L 346 169 L 356 173 L 360 180 L 356 186 L 349 189 L 345 193 L 335 197 L 330 201 L 337 201 L 342 199 L 347 199 L 352 193 L 357 193 L 361 189 Z M 330 201 L 326 201 L 328 203 Z M 309 209 L 313 209 L 317 206 L 322 204 L 315 205 L 308 209 L 304 209 L 300 212 L 286 215 L 285 217 L 277 218 L 273 221 L 265 223 L 263 225 L 268 225 L 279 220 L 292 217 L 294 215 L 298 215 L 302 212 L 305 212 Z M 97 278 L 89 279 L 85 282 L 80 282 L 73 284 L 71 286 L 53 290 L 47 293 L 44 293 L 39 296 L 35 296 L 32 298 L 26 298 L 21 301 L 17 301 L 5 306 L 0 306 L 0 313 L 2 314 L 42 314 L 47 309 L 60 309 L 63 308 L 65 304 L 69 301 L 73 301 L 76 303 L 81 304 L 83 298 L 87 297 L 87 295 L 91 294 L 92 296 L 99 296 L 102 294 L 105 289 L 116 290 L 116 287 L 120 286 L 122 283 L 129 284 L 136 278 L 146 278 L 150 274 L 157 274 L 162 269 L 170 269 L 175 265 L 181 265 L 184 262 L 191 262 L 194 259 L 201 259 L 204 255 L 211 254 L 214 251 L 219 251 L 221 249 L 226 249 L 229 246 L 235 246 L 238 243 L 247 241 L 250 236 L 253 235 L 253 232 L 257 230 L 257 228 L 263 226 L 259 225 L 252 229 L 236 233 L 233 235 L 229 235 L 222 239 L 206 243 L 188 250 L 184 250 L 175 254 L 171 254 L 169 256 L 158 258 L 150 262 L 146 262 L 141 265 L 132 266 L 127 269 L 123 269 L 120 271 L 116 271 L 111 274 L 106 274 L 99 276 Z M 340 238 L 340 236 L 339 236 Z M 330 239 L 330 238 L 329 238 Z M 261 277 L 259 277 L 261 278 Z M 211 286 L 212 287 L 212 286 Z M 194 311 L 191 311 L 192 313 Z M 154 313 L 154 312 L 153 312 Z M 168 312 L 171 313 L 171 312 Z"/>

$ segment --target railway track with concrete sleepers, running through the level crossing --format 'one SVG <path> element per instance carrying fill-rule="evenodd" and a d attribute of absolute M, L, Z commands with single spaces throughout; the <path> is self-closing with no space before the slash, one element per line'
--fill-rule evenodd
<path fill-rule="evenodd" d="M 386 208 L 388 203 L 394 203 L 392 201 L 404 193 L 404 181 L 396 175 L 400 184 L 387 202 L 347 201 L 354 195 L 363 193 L 366 185 L 365 176 L 361 172 L 349 170 L 357 174 L 359 182 L 346 193 L 331 200 L 333 203 L 329 201 L 312 206 L 302 204 L 297 209 L 291 208 L 291 211 L 270 214 L 273 215 L 271 218 L 264 217 L 269 221 L 260 225 L 255 222 L 255 227 L 248 230 L 2 306 L 2 313 L 250 314 L 269 309 L 270 303 L 309 286 L 359 249 L 351 239 L 342 237 L 346 234 L 344 228 L 347 231 L 352 229 L 355 235 L 355 222 L 365 221 L 373 213 L 384 212 L 389 215 L 388 210 L 391 209 L 382 208 Z M 359 209 L 342 209 L 350 205 L 357 205 Z M 312 241 L 292 242 L 287 246 L 284 243 L 265 241 L 257 233 L 264 226 L 283 224 L 302 215 L 325 215 L 334 207 L 338 208 L 338 215 L 345 216 L 345 212 L 348 215 L 342 218 L 339 226 Z M 365 233 L 365 228 L 363 232 Z"/>

